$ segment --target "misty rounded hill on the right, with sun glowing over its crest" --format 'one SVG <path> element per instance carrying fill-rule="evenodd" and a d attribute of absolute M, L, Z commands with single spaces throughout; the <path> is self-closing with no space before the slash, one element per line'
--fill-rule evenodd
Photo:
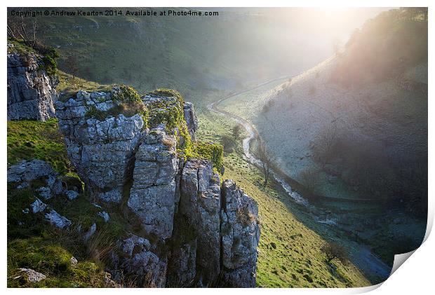
<path fill-rule="evenodd" d="M 323 195 L 427 197 L 427 17 L 369 20 L 335 57 L 279 85 L 253 123 L 288 174 Z M 319 174 L 319 175 L 317 175 Z M 312 184 L 310 184 L 312 186 Z M 336 187 L 333 185 L 332 187 Z"/>

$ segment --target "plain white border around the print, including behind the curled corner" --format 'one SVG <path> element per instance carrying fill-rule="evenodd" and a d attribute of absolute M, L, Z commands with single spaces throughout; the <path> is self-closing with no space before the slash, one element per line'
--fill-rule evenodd
<path fill-rule="evenodd" d="M 93 7 L 93 6 L 106 6 L 106 7 L 143 7 L 143 6 L 159 6 L 159 7 L 178 7 L 178 6 L 187 6 L 187 7 L 401 7 L 401 6 L 429 6 L 429 32 L 434 32 L 433 26 L 433 18 L 435 14 L 432 13 L 432 9 L 434 9 L 434 5 L 430 5 L 431 1 L 423 1 L 423 0 L 414 0 L 414 1 L 403 1 L 403 0 L 352 0 L 352 1 L 321 1 L 321 0 L 305 0 L 305 1 L 284 1 L 284 0 L 268 0 L 268 1 L 259 1 L 259 0 L 251 0 L 251 1 L 239 1 L 239 0 L 209 0 L 209 1 L 174 1 L 174 0 L 161 0 L 161 1 L 133 1 L 133 0 L 123 0 L 123 1 L 84 1 L 84 0 L 76 0 L 68 3 L 60 3 L 60 1 L 53 0 L 41 0 L 41 1 L 8 1 L 6 6 L 3 6 L 2 15 L 4 29 L 1 31 L 2 34 L 2 43 L 4 44 L 4 50 L 6 50 L 6 7 L 7 6 L 15 6 L 15 7 L 26 7 L 26 6 L 76 6 L 76 7 Z M 434 48 L 433 46 L 433 36 L 429 33 L 429 53 L 431 52 L 430 48 Z M 3 121 L 1 122 L 1 165 L 3 169 L 1 170 L 1 188 L 2 188 L 2 198 L 3 198 L 3 211 L 1 212 L 2 224 L 4 226 L 1 227 L 1 235 L 3 237 L 3 243 L 1 244 L 1 273 L 0 273 L 0 281 L 4 288 L 6 288 L 6 59 L 2 60 L 2 71 L 1 71 L 1 81 L 3 81 L 3 91 L 1 92 L 3 97 L 4 107 L 1 109 L 1 114 Z M 434 119 L 431 115 L 434 115 L 433 102 L 431 99 L 434 98 L 432 95 L 433 88 L 433 76 L 431 76 L 431 69 L 433 69 L 433 60 L 429 56 L 429 148 L 433 145 L 433 135 L 431 130 L 434 128 Z M 430 149 L 429 149 L 430 151 Z M 429 153 L 429 184 L 434 183 L 434 157 L 431 153 Z M 433 186 L 429 186 L 429 217 L 428 217 L 428 228 L 427 234 L 425 236 L 424 244 L 415 251 L 413 254 L 413 258 L 406 261 L 406 263 L 401 266 L 394 275 L 391 275 L 389 279 L 382 284 L 382 287 L 367 287 L 367 288 L 356 288 L 356 289 L 249 289 L 249 290 L 239 290 L 239 289 L 81 289 L 77 291 L 81 292 L 92 292 L 93 294 L 98 293 L 112 293 L 119 294 L 119 292 L 128 291 L 129 294 L 142 294 L 142 292 L 147 292 L 149 294 L 170 294 L 173 292 L 188 292 L 189 294 L 198 294 L 199 292 L 206 291 L 208 294 L 221 294 L 225 292 L 225 294 L 235 294 L 236 292 L 252 292 L 255 294 L 259 294 L 262 292 L 273 292 L 276 294 L 283 294 L 283 292 L 292 292 L 292 294 L 305 294 L 309 292 L 312 293 L 323 293 L 323 294 L 354 294 L 361 293 L 364 291 L 373 291 L 373 294 L 430 294 L 433 292 L 434 287 L 432 285 L 432 281 L 434 277 L 432 275 L 434 268 L 434 253 L 433 249 L 435 249 L 434 238 L 429 237 L 429 232 L 431 230 L 431 226 L 434 218 L 434 200 L 433 200 L 434 188 Z M 428 238 L 429 237 L 429 238 Z M 377 289 L 376 289 L 377 288 Z M 8 289 L 8 292 L 11 293 L 26 293 L 31 291 L 34 294 L 51 293 L 58 292 L 58 289 Z M 72 289 L 62 289 L 62 293 L 72 294 L 76 292 L 76 290 Z"/>

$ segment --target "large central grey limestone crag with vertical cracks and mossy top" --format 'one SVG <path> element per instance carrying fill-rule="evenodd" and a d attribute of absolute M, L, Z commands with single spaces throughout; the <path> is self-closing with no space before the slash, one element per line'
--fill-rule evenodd
<path fill-rule="evenodd" d="M 111 252 L 109 273 L 143 287 L 255 287 L 257 204 L 234 182 L 221 186 L 209 160 L 179 158 L 177 147 L 198 128 L 193 104 L 161 92 L 142 102 L 148 117 L 116 114 L 126 107 L 114 90 L 56 103 L 88 192 L 131 212 L 140 226 Z"/>

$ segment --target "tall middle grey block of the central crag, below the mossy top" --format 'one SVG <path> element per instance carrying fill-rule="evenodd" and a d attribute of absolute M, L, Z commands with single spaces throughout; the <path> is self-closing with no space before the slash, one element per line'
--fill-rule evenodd
<path fill-rule="evenodd" d="M 147 233 L 170 238 L 175 210 L 176 140 L 164 130 L 151 130 L 135 153 L 128 207 Z"/>

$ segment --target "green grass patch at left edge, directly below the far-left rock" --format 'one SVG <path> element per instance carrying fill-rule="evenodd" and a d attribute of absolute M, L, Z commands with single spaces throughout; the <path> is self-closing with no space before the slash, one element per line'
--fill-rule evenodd
<path fill-rule="evenodd" d="M 56 172 L 72 172 L 58 121 L 8 121 L 8 165 L 45 160 Z"/>

